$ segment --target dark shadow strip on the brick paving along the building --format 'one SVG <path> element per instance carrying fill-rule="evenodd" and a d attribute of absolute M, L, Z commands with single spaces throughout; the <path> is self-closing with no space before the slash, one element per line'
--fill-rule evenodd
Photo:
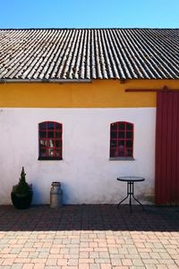
<path fill-rule="evenodd" d="M 49 205 L 17 210 L 11 205 L 0 206 L 0 231 L 8 230 L 152 230 L 178 231 L 179 207 L 115 204 Z"/>

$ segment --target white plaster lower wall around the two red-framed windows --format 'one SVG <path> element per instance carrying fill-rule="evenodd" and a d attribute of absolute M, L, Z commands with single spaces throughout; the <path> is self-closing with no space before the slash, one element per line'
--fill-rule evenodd
<path fill-rule="evenodd" d="M 38 123 L 63 124 L 63 161 L 38 161 Z M 110 123 L 134 124 L 135 161 L 109 161 Z M 135 193 L 145 204 L 154 195 L 155 108 L 2 108 L 0 110 L 0 204 L 24 166 L 33 204 L 49 204 L 53 181 L 61 181 L 64 204 L 113 204 L 126 195 L 118 176 L 141 176 Z"/>

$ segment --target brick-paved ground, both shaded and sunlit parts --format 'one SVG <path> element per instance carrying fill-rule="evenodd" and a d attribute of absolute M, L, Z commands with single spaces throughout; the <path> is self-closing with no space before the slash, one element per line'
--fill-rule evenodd
<path fill-rule="evenodd" d="M 179 268 L 179 207 L 0 206 L 0 268 Z"/>

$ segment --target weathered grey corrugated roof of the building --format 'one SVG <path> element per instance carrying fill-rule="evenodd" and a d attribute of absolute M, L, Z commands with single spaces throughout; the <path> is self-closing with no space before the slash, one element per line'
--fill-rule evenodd
<path fill-rule="evenodd" d="M 178 79 L 179 29 L 0 30 L 0 79 Z"/>

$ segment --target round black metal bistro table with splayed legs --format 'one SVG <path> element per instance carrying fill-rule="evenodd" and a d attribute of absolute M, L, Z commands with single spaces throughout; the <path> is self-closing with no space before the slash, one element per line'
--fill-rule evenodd
<path fill-rule="evenodd" d="M 117 178 L 117 180 L 127 182 L 127 196 L 121 202 L 119 202 L 119 204 L 117 204 L 117 207 L 119 207 L 119 205 L 122 204 L 129 197 L 130 212 L 132 212 L 132 198 L 138 204 L 140 204 L 142 209 L 143 209 L 143 205 L 141 204 L 141 202 L 138 201 L 137 198 L 134 196 L 133 185 L 134 185 L 134 182 L 144 181 L 145 178 L 141 178 L 141 177 L 120 177 L 120 178 Z"/>

